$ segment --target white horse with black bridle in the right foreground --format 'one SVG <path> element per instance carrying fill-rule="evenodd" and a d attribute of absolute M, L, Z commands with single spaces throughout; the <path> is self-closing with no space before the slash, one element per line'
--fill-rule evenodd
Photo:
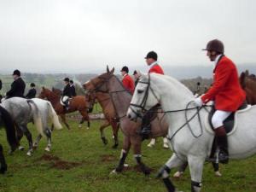
<path fill-rule="evenodd" d="M 206 120 L 208 111 L 205 109 L 210 108 L 189 105 L 194 99 L 192 92 L 176 79 L 159 74 L 143 75 L 127 112 L 130 119 L 136 120 L 157 103 L 166 112 L 169 144 L 174 154 L 158 176 L 163 178 L 168 191 L 175 191 L 168 178 L 171 169 L 186 161 L 189 163 L 191 191 L 201 191 L 203 165 L 211 154 L 214 134 Z M 256 153 L 255 115 L 256 106 L 236 112 L 234 129 L 228 134 L 230 159 L 243 159 Z"/>

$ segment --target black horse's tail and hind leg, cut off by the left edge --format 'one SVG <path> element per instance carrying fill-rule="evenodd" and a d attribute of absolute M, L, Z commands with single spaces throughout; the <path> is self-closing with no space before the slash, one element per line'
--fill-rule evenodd
<path fill-rule="evenodd" d="M 7 141 L 10 146 L 10 152 L 14 152 L 18 148 L 19 143 L 15 134 L 15 124 L 6 109 L 0 106 L 0 125 L 3 125 L 6 131 Z M 0 144 L 0 173 L 7 171 L 6 161 L 3 155 L 3 146 Z"/>

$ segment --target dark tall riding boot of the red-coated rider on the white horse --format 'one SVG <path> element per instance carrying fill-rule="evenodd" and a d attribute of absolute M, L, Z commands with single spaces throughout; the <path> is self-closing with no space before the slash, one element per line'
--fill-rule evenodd
<path fill-rule="evenodd" d="M 224 126 L 218 127 L 215 131 L 219 148 L 218 161 L 223 164 L 229 162 L 228 138 Z"/>

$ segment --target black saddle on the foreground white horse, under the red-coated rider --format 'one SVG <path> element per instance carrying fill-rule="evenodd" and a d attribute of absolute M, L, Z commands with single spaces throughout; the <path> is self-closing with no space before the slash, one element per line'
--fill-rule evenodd
<path fill-rule="evenodd" d="M 242 109 L 245 109 L 247 108 L 247 102 L 243 102 L 240 106 L 240 108 L 237 109 L 237 111 L 239 110 L 242 110 Z M 209 124 L 211 125 L 211 128 L 212 128 L 212 131 L 214 131 L 213 129 L 213 126 L 212 126 L 212 116 L 213 116 L 213 113 L 216 111 L 216 109 L 213 107 L 209 113 L 209 116 L 208 116 L 208 121 L 209 121 Z M 233 128 L 234 128 L 234 125 L 235 125 L 235 113 L 236 112 L 233 112 L 233 113 L 230 113 L 230 116 L 224 120 L 224 128 L 225 128 L 225 131 L 226 133 L 230 133 Z"/>

